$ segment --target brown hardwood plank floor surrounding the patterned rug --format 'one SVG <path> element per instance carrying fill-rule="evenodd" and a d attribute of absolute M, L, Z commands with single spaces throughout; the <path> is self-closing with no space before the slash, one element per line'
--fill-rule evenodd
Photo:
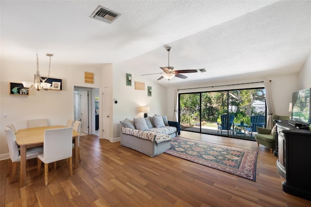
<path fill-rule="evenodd" d="M 214 170 L 172 155 L 150 157 L 97 136 L 80 137 L 79 168 L 69 174 L 58 161 L 44 185 L 36 159 L 27 162 L 27 185 L 8 184 L 11 162 L 0 161 L 1 207 L 306 207 L 311 201 L 284 193 L 276 157 L 257 142 L 182 131 L 181 137 L 259 151 L 256 182 Z M 18 164 L 19 166 L 19 164 Z"/>

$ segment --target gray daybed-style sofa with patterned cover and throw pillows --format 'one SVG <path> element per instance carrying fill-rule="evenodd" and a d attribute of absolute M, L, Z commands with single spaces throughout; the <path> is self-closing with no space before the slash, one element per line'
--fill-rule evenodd
<path fill-rule="evenodd" d="M 148 123 L 146 123 L 147 127 L 144 123 L 142 123 L 143 126 L 140 125 L 142 120 Z M 134 121 L 125 119 L 120 122 L 122 124 L 121 145 L 151 157 L 170 149 L 171 140 L 177 135 L 176 127 L 162 123 L 159 127 L 157 123 L 154 123 L 153 117 L 138 118 Z M 165 122 L 165 117 L 163 122 Z"/>

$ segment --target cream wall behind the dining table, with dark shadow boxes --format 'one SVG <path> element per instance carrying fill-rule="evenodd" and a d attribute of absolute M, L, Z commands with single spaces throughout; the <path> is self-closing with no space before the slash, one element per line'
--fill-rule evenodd
<path fill-rule="evenodd" d="M 4 127 L 13 123 L 17 129 L 27 128 L 27 120 L 48 118 L 51 125 L 64 125 L 73 119 L 73 86 L 101 87 L 102 69 L 93 66 L 55 65 L 51 62 L 52 78 L 62 79 L 62 90 L 36 91 L 29 96 L 9 95 L 9 82 L 33 81 L 34 63 L 6 62 L 1 60 L 0 70 L 0 155 L 8 153 Z M 48 64 L 39 62 L 42 76 L 48 74 Z M 94 84 L 84 83 L 84 72 L 94 72 Z M 8 118 L 4 119 L 3 114 Z"/>

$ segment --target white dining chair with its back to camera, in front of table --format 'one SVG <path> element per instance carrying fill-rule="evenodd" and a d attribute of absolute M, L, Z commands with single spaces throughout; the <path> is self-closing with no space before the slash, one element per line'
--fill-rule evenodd
<path fill-rule="evenodd" d="M 49 163 L 69 158 L 70 175 L 72 176 L 72 127 L 46 129 L 44 131 L 43 154 L 38 155 L 38 174 L 41 162 L 44 163 L 45 185 L 48 185 Z"/>

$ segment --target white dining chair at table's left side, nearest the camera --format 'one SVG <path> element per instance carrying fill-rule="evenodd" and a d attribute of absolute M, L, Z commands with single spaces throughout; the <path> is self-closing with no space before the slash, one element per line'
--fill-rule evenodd
<path fill-rule="evenodd" d="M 9 156 L 12 161 L 11 177 L 9 181 L 9 183 L 12 183 L 15 177 L 15 173 L 16 173 L 17 162 L 20 161 L 20 153 L 18 151 L 18 145 L 16 143 L 15 133 L 9 127 L 5 127 L 4 131 L 5 131 L 6 141 L 9 147 Z M 36 158 L 38 153 L 42 153 L 42 152 L 43 152 L 42 146 L 28 148 L 26 150 L 26 159 Z"/>

